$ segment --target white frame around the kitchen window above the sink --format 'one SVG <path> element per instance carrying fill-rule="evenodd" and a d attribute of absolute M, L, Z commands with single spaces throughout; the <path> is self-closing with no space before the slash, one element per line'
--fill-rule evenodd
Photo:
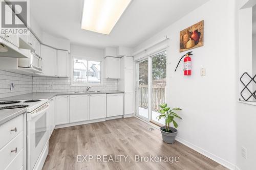
<path fill-rule="evenodd" d="M 74 83 L 74 59 L 78 59 L 78 60 L 87 60 L 87 62 L 89 61 L 95 61 L 95 62 L 100 62 L 100 82 L 99 83 L 84 83 L 84 84 L 76 84 Z M 77 56 L 77 55 L 72 55 L 70 57 L 70 86 L 103 86 L 103 64 L 102 64 L 102 60 L 98 60 L 98 59 L 93 59 L 93 58 L 89 58 L 89 57 L 84 57 L 84 56 Z"/>

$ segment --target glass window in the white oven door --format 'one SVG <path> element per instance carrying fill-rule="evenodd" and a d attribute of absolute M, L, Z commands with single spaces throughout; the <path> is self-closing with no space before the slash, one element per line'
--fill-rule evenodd
<path fill-rule="evenodd" d="M 46 113 L 42 115 L 38 120 L 35 122 L 35 147 L 40 142 L 41 138 L 46 133 Z"/>

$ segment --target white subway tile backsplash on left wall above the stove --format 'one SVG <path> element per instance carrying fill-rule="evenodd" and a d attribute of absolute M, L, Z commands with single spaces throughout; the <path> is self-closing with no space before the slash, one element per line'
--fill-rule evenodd
<path fill-rule="evenodd" d="M 11 83 L 14 83 L 14 88 L 12 90 L 10 89 Z M 0 70 L 0 98 L 31 93 L 32 91 L 32 76 Z"/>

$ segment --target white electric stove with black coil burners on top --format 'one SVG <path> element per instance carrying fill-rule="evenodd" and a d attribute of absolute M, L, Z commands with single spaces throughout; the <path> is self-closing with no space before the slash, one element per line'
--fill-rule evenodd
<path fill-rule="evenodd" d="M 27 169 L 41 169 L 48 154 L 48 99 L 1 101 L 0 109 L 27 108 Z"/>

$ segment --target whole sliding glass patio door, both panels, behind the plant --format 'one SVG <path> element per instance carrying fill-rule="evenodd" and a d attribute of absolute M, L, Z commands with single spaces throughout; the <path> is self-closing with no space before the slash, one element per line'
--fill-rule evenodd
<path fill-rule="evenodd" d="M 137 62 L 137 116 L 150 122 L 158 120 L 159 105 L 165 103 L 166 51 Z M 150 90 L 148 90 L 150 89 Z"/>

